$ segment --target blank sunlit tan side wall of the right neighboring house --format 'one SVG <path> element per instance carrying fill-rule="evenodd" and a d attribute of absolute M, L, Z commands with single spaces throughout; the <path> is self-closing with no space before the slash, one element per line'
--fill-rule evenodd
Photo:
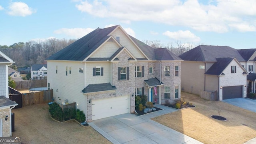
<path fill-rule="evenodd" d="M 181 62 L 181 90 L 198 94 L 204 90 L 204 70 L 199 69 L 204 62 Z"/>

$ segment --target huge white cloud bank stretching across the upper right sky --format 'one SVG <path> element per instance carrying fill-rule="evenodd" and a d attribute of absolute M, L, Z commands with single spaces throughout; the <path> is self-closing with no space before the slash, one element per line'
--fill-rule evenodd
<path fill-rule="evenodd" d="M 204 4 L 198 0 L 86 0 L 78 2 L 76 8 L 101 18 L 117 18 L 127 24 L 151 21 L 223 33 L 256 31 L 255 5 L 256 0 L 208 0 Z"/>

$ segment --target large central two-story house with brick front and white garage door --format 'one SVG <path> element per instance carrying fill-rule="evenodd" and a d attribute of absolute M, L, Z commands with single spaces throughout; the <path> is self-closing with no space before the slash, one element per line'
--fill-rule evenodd
<path fill-rule="evenodd" d="M 135 96 L 157 104 L 180 98 L 182 60 L 128 35 L 120 25 L 97 28 L 46 61 L 56 101 L 76 102 L 87 122 L 134 113 Z"/>

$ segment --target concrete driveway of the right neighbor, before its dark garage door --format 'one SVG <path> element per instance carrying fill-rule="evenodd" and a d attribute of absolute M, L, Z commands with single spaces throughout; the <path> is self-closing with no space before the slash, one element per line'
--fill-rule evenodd
<path fill-rule="evenodd" d="M 256 100 L 252 100 L 250 98 L 232 98 L 222 100 L 222 102 L 226 102 L 228 104 L 232 104 L 234 106 L 238 106 L 240 108 L 256 112 Z"/>

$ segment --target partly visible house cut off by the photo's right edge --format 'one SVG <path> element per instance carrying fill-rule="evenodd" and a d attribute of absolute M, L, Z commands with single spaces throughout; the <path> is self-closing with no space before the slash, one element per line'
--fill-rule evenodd
<path fill-rule="evenodd" d="M 256 48 L 238 50 L 246 62 L 241 62 L 249 73 L 247 76 L 247 93 L 256 93 Z"/>

